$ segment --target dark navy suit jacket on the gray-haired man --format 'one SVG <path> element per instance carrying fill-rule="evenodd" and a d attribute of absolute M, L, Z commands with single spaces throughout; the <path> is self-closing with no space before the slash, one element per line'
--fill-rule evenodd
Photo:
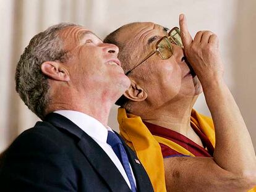
<path fill-rule="evenodd" d="M 93 127 L 92 127 L 93 128 Z M 124 144 L 137 191 L 153 191 L 147 173 Z M 4 154 L 0 191 L 130 191 L 101 147 L 66 117 L 51 113 L 24 131 Z"/>

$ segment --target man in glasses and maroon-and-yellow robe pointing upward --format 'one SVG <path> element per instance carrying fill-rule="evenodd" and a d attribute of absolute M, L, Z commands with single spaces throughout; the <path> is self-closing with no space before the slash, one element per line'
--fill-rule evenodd
<path fill-rule="evenodd" d="M 250 190 L 255 151 L 223 81 L 218 37 L 199 31 L 192 40 L 184 15 L 180 27 L 130 23 L 105 38 L 131 81 L 116 103 L 121 135 L 155 191 Z M 202 91 L 212 119 L 192 108 Z"/>

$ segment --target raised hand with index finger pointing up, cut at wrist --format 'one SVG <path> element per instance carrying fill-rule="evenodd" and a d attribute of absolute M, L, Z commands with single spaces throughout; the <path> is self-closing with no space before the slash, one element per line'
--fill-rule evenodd
<path fill-rule="evenodd" d="M 211 31 L 198 31 L 192 40 L 185 15 L 179 16 L 184 51 L 202 85 L 223 77 L 223 64 L 219 52 L 218 37 Z"/>

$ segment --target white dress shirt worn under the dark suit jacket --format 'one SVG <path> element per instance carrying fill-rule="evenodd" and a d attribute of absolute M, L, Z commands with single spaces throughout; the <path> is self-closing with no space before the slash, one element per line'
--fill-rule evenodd
<path fill-rule="evenodd" d="M 113 163 L 116 165 L 119 172 L 122 174 L 122 177 L 124 177 L 124 180 L 126 180 L 127 185 L 131 189 L 129 179 L 126 175 L 126 171 L 124 170 L 124 167 L 122 166 L 121 162 L 119 161 L 118 157 L 114 153 L 111 146 L 106 143 L 108 138 L 108 130 L 113 131 L 110 127 L 105 127 L 101 122 L 94 119 L 93 117 L 83 114 L 82 112 L 78 111 L 70 111 L 70 110 L 59 110 L 54 111 L 55 113 L 61 114 L 73 123 L 77 125 L 79 128 L 81 128 L 85 133 L 87 133 L 91 138 L 93 138 L 98 145 L 106 152 L 106 154 L 109 156 L 109 158 L 113 161 Z M 130 170 L 132 171 L 132 167 L 130 166 Z M 134 173 L 132 172 L 132 177 L 134 179 L 134 184 L 136 186 Z"/>

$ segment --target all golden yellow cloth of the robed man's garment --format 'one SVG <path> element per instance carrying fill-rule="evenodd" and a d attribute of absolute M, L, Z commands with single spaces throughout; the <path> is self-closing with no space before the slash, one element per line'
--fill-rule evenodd
<path fill-rule="evenodd" d="M 187 149 L 182 148 L 173 141 L 166 140 L 159 136 L 153 136 L 142 119 L 136 115 L 126 114 L 126 110 L 119 108 L 117 120 L 119 122 L 120 135 L 124 141 L 132 148 L 142 162 L 143 167 L 148 173 L 148 177 L 153 185 L 154 191 L 166 192 L 164 180 L 164 165 L 161 147 L 158 143 L 163 143 L 170 148 L 188 156 L 194 156 Z M 210 140 L 215 147 L 215 129 L 213 120 L 192 110 L 190 123 L 196 125 Z M 248 192 L 256 192 L 256 188 Z"/>

